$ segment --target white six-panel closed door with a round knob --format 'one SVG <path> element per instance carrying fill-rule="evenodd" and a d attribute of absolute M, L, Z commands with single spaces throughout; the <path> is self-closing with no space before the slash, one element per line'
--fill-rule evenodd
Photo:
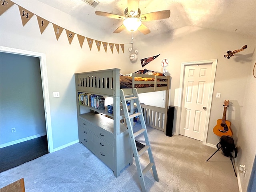
<path fill-rule="evenodd" d="M 212 64 L 185 66 L 180 134 L 202 141 L 206 128 Z"/>

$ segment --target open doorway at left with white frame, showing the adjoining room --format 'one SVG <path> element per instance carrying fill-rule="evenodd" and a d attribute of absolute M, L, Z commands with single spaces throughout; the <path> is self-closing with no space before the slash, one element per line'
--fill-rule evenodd
<path fill-rule="evenodd" d="M 19 150 L 22 159 L 18 161 L 27 162 L 32 159 L 25 154 L 37 158 L 53 152 L 45 55 L 5 47 L 0 51 L 1 164 L 6 150 L 7 154 Z M 34 64 L 29 66 L 28 60 Z M 31 154 L 33 150 L 37 152 Z"/>

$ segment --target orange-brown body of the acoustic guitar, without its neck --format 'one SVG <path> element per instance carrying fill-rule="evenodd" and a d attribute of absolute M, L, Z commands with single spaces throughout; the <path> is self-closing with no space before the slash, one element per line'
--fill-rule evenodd
<path fill-rule="evenodd" d="M 220 137 L 223 135 L 232 136 L 233 132 L 230 129 L 230 125 L 231 125 L 230 121 L 225 120 L 225 123 L 222 123 L 222 119 L 218 119 L 216 126 L 214 126 L 213 128 L 213 132 L 214 134 Z"/>

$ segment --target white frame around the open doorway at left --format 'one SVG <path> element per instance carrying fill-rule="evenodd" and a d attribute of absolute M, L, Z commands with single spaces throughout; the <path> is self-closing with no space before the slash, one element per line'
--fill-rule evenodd
<path fill-rule="evenodd" d="M 20 54 L 20 55 L 26 55 L 26 56 L 32 56 L 32 57 L 39 58 L 41 78 L 42 78 L 43 97 L 44 97 L 44 110 L 45 110 L 48 151 L 49 151 L 49 153 L 54 152 L 53 140 L 52 140 L 52 123 L 51 123 L 51 113 L 50 113 L 48 78 L 47 78 L 47 68 L 46 68 L 46 55 L 44 53 L 32 52 L 32 51 L 21 50 L 21 49 L 16 49 L 16 48 L 9 48 L 9 47 L 4 47 L 4 46 L 0 46 L 0 51 L 6 52 L 6 53 Z"/>

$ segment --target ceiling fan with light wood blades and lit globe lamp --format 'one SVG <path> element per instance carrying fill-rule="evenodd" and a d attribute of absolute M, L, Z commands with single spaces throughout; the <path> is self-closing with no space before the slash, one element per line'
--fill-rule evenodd
<path fill-rule="evenodd" d="M 146 35 L 150 33 L 150 30 L 144 24 L 142 24 L 142 22 L 169 18 L 170 10 L 156 11 L 140 15 L 139 0 L 128 0 L 127 8 L 124 10 L 124 16 L 102 11 L 95 11 L 95 14 L 124 20 L 123 24 L 114 30 L 114 33 L 119 33 L 127 28 L 127 30 L 132 32 L 138 29 L 140 32 Z"/>

